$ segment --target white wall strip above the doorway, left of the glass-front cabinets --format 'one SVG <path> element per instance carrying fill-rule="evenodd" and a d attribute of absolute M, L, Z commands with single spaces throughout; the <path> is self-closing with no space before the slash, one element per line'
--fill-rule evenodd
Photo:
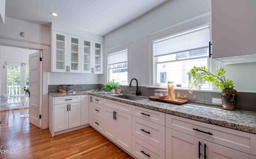
<path fill-rule="evenodd" d="M 20 32 L 25 36 L 21 37 Z M 6 17 L 0 23 L 0 36 L 50 45 L 50 27 Z"/>

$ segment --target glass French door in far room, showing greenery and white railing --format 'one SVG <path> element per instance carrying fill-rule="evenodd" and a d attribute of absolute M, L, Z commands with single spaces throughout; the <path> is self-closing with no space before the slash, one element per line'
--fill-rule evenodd
<path fill-rule="evenodd" d="M 28 88 L 28 63 L 5 63 L 4 65 L 4 93 L 8 96 L 23 94 Z"/>

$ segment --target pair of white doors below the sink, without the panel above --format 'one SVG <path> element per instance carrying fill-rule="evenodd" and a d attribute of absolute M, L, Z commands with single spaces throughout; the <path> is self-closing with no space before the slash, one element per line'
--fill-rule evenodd
<path fill-rule="evenodd" d="M 104 135 L 132 153 L 132 115 L 104 106 Z"/>

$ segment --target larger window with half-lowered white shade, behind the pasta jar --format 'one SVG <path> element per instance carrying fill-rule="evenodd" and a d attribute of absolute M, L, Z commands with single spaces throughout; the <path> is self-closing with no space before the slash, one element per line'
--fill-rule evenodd
<path fill-rule="evenodd" d="M 186 74 L 194 65 L 209 68 L 209 35 L 209 26 L 204 26 L 154 40 L 154 86 L 174 81 L 175 86 L 187 87 L 190 77 Z"/>

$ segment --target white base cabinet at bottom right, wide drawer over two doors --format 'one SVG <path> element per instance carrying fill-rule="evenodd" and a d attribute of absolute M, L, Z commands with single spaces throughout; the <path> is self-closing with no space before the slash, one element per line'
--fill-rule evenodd
<path fill-rule="evenodd" d="M 166 114 L 166 158 L 248 159 L 251 135 Z"/>

